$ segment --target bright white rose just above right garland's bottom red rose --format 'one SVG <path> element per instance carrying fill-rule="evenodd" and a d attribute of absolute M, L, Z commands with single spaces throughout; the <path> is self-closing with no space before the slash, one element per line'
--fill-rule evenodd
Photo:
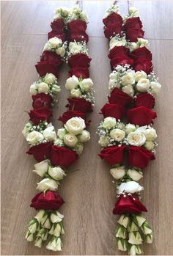
<path fill-rule="evenodd" d="M 144 190 L 144 188 L 136 181 L 128 181 L 127 183 L 121 183 L 118 189 L 118 194 L 122 194 L 123 192 L 134 194 L 139 193 L 142 190 Z"/>

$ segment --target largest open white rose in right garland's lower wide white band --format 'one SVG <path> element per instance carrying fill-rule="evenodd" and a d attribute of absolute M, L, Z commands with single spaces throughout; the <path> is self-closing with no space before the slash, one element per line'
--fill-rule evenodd
<path fill-rule="evenodd" d="M 128 134 L 127 141 L 130 145 L 140 147 L 146 142 L 146 137 L 143 133 L 133 131 Z"/>

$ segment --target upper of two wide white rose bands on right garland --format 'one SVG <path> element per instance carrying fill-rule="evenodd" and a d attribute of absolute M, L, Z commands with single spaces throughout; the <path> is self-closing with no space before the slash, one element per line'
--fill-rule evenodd
<path fill-rule="evenodd" d="M 129 65 L 118 65 L 110 74 L 108 89 L 120 88 L 131 97 L 138 93 L 148 92 L 157 95 L 160 92 L 161 84 L 158 83 L 155 73 L 147 75 L 144 71 L 137 71 L 129 68 Z"/>

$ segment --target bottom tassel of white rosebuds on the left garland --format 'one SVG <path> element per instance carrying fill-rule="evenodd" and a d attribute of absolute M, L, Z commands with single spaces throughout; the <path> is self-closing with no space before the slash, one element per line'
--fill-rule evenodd
<path fill-rule="evenodd" d="M 60 235 L 65 233 L 62 224 L 63 218 L 64 216 L 59 211 L 38 211 L 37 215 L 29 222 L 26 240 L 29 242 L 34 241 L 34 245 L 41 248 L 43 241 L 46 241 L 48 234 L 50 234 L 52 238 L 46 248 L 55 252 L 61 251 L 62 241 Z"/>

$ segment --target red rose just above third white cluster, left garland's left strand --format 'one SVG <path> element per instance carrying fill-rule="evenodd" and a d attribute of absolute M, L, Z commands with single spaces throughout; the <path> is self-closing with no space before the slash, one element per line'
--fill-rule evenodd
<path fill-rule="evenodd" d="M 59 76 L 59 65 L 57 65 L 57 62 L 52 61 L 41 61 L 37 62 L 35 65 L 37 73 L 39 73 L 40 76 L 45 76 L 46 73 L 52 73 L 58 78 Z"/>

